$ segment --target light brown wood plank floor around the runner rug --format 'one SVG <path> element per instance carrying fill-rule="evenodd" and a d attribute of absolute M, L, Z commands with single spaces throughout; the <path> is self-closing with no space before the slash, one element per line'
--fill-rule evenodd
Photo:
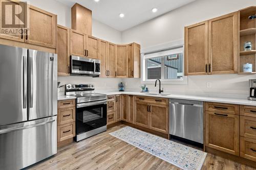
<path fill-rule="evenodd" d="M 29 169 L 180 169 L 111 135 L 125 125 L 59 148 L 58 153 Z M 202 169 L 254 168 L 207 154 Z"/>

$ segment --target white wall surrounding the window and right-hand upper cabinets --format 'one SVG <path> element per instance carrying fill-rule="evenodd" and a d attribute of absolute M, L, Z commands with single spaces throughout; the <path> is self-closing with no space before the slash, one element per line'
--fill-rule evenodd
<path fill-rule="evenodd" d="M 256 6 L 255 0 L 197 0 L 174 11 L 170 11 L 134 28 L 122 32 L 122 42 L 138 42 L 142 49 L 152 48 L 159 44 L 183 40 L 184 27 L 210 18 L 237 11 L 248 6 Z M 161 9 L 159 9 L 161 10 Z M 162 85 L 165 91 L 172 93 L 230 93 L 248 95 L 249 79 L 256 75 L 214 75 L 189 76 L 186 85 Z M 126 87 L 138 90 L 140 79 L 126 79 Z M 207 88 L 207 82 L 211 87 Z M 154 85 L 148 85 L 150 90 L 157 90 Z M 126 89 L 127 89 L 126 88 Z M 212 95 L 212 94 L 211 94 Z M 225 95 L 224 96 L 228 96 Z"/>

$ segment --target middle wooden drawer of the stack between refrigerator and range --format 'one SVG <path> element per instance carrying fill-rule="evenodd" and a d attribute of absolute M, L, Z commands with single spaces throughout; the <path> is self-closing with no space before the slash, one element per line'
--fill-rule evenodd
<path fill-rule="evenodd" d="M 58 125 L 68 124 L 75 122 L 76 108 L 63 108 L 58 109 Z"/>

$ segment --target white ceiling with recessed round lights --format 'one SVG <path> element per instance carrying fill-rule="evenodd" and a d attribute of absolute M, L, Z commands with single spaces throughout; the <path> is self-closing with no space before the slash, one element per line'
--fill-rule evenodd
<path fill-rule="evenodd" d="M 57 1 L 70 7 L 78 3 L 92 10 L 94 19 L 124 31 L 195 0 L 100 0 L 97 3 L 94 0 Z M 158 11 L 153 13 L 153 8 Z M 120 18 L 120 13 L 125 16 Z"/>

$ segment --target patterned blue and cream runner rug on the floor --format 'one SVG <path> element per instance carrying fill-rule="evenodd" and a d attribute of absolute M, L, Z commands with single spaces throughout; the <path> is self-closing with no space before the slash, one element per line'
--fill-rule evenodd
<path fill-rule="evenodd" d="M 185 170 L 201 169 L 207 155 L 197 149 L 131 127 L 124 127 L 110 135 Z"/>

